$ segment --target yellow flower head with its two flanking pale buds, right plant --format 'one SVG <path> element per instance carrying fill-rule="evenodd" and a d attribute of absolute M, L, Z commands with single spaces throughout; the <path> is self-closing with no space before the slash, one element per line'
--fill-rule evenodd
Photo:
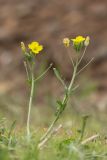
<path fill-rule="evenodd" d="M 76 38 L 71 39 L 71 41 L 73 42 L 74 49 L 77 52 L 79 52 L 84 46 L 87 47 L 89 45 L 90 38 L 89 38 L 89 36 L 87 36 L 86 38 L 83 36 L 77 36 Z M 65 47 L 69 47 L 70 46 L 70 39 L 64 38 L 63 44 Z"/>

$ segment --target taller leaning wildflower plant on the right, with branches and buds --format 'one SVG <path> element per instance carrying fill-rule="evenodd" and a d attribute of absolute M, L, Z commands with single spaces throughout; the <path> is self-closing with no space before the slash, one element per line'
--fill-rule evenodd
<path fill-rule="evenodd" d="M 76 38 L 73 38 L 73 39 L 69 39 L 69 38 L 64 38 L 63 39 L 63 44 L 66 47 L 66 49 L 68 50 L 70 45 L 72 44 L 74 50 L 78 54 L 76 55 L 76 60 L 75 61 L 73 60 L 72 56 L 69 54 L 69 57 L 70 57 L 70 60 L 71 60 L 72 66 L 73 66 L 73 73 L 72 73 L 71 81 L 68 85 L 66 84 L 66 82 L 62 78 L 59 71 L 56 68 L 53 68 L 55 76 L 57 77 L 57 79 L 63 85 L 65 92 L 64 92 L 63 99 L 57 101 L 57 104 L 56 104 L 57 105 L 57 110 L 56 110 L 56 114 L 55 114 L 55 119 L 51 123 L 51 125 L 48 128 L 48 130 L 46 131 L 46 133 L 41 137 L 40 143 L 38 145 L 39 148 L 41 148 L 44 145 L 44 143 L 47 141 L 47 139 L 52 134 L 54 125 L 56 124 L 56 122 L 58 121 L 58 119 L 62 115 L 63 111 L 67 107 L 70 95 L 77 88 L 77 86 L 76 87 L 74 86 L 74 82 L 75 82 L 75 79 L 76 79 L 77 75 L 83 69 L 85 69 L 89 65 L 89 63 L 91 63 L 91 61 L 93 60 L 93 58 L 92 58 L 82 69 L 80 69 L 78 71 L 78 66 L 80 65 L 80 63 L 81 63 L 81 61 L 82 61 L 82 59 L 83 59 L 83 57 L 86 53 L 86 49 L 87 49 L 87 46 L 89 45 L 89 42 L 90 42 L 90 38 L 88 36 L 87 37 L 77 36 Z M 83 50 L 82 54 L 81 54 L 81 50 Z"/>

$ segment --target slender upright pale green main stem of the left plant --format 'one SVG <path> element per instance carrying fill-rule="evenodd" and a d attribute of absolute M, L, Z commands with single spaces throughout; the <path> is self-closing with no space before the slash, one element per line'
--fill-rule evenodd
<path fill-rule="evenodd" d="M 32 100 L 34 94 L 34 73 L 33 73 L 33 65 L 31 70 L 31 92 L 30 92 L 30 99 L 29 99 L 29 108 L 28 108 L 28 117 L 27 117 L 27 138 L 30 138 L 30 114 L 31 114 L 31 107 L 32 107 Z"/>

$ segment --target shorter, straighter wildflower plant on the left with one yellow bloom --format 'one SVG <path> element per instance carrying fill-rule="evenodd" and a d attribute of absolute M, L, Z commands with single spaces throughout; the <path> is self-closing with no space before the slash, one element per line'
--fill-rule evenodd
<path fill-rule="evenodd" d="M 47 71 L 50 69 L 51 65 L 38 77 L 35 77 L 35 59 L 36 55 L 39 54 L 43 50 L 43 46 L 38 42 L 31 42 L 28 44 L 28 47 L 25 46 L 23 42 L 21 42 L 21 50 L 24 54 L 24 66 L 27 74 L 27 81 L 30 84 L 30 98 L 28 105 L 28 116 L 27 116 L 27 139 L 30 139 L 30 115 L 31 115 L 31 107 L 34 96 L 34 88 L 35 83 L 42 78 Z"/>

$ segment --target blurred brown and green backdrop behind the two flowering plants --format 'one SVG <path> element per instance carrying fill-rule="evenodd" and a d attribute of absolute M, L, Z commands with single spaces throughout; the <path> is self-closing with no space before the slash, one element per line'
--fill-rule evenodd
<path fill-rule="evenodd" d="M 29 86 L 20 42 L 39 41 L 44 46 L 37 56 L 36 75 L 53 63 L 66 82 L 72 66 L 62 44 L 64 37 L 90 36 L 91 42 L 80 68 L 94 61 L 77 78 L 80 84 L 71 108 L 77 113 L 107 112 L 107 1 L 106 0 L 0 0 L 0 115 L 26 121 Z M 71 50 L 72 55 L 73 50 Z M 35 88 L 32 117 L 38 110 L 49 116 L 63 88 L 52 69 Z M 69 108 L 69 109 L 71 109 Z M 40 111 L 39 120 L 43 113 Z M 41 115 L 42 114 L 42 115 Z M 36 120 L 37 121 L 37 120 Z"/>

